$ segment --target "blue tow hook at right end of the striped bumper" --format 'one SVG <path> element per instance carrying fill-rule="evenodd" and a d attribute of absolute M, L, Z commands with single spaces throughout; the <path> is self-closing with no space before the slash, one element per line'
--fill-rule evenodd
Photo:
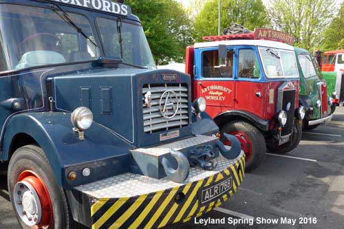
<path fill-rule="evenodd" d="M 241 152 L 241 144 L 237 137 L 230 135 L 228 133 L 224 133 L 224 138 L 230 142 L 230 149 L 227 149 L 226 146 L 220 141 L 217 140 L 215 142 L 219 152 L 228 160 L 233 160 L 240 155 Z"/>

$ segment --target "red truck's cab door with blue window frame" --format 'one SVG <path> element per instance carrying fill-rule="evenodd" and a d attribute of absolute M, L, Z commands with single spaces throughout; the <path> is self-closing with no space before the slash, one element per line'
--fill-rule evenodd
<path fill-rule="evenodd" d="M 235 51 L 237 72 L 235 78 L 235 109 L 264 116 L 264 99 L 267 96 L 264 89 L 266 83 L 262 80 L 259 54 L 255 46 L 238 46 Z"/>

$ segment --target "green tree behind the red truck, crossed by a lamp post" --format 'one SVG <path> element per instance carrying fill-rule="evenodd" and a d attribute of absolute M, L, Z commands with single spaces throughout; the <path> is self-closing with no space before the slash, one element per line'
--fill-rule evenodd
<path fill-rule="evenodd" d="M 219 1 L 208 0 L 202 5 L 193 23 L 197 41 L 202 41 L 202 36 L 218 33 Z M 232 22 L 254 30 L 268 26 L 270 19 L 261 0 L 221 0 L 221 31 Z"/>

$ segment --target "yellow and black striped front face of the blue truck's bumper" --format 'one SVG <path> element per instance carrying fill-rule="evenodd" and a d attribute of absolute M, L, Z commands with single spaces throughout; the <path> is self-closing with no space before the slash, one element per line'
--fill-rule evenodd
<path fill-rule="evenodd" d="M 89 193 L 90 223 L 93 229 L 150 229 L 189 221 L 222 205 L 232 197 L 244 179 L 244 171 L 245 158 L 241 154 L 239 160 L 232 161 L 228 167 L 216 171 L 213 175 L 202 179 L 197 179 L 196 175 L 197 180 L 173 188 L 144 195 L 129 195 L 130 197 L 123 195 L 119 198 L 97 199 Z M 230 178 L 232 186 L 229 190 L 201 203 L 202 190 Z M 133 188 L 136 186 L 135 179 L 127 182 L 132 182 Z"/>

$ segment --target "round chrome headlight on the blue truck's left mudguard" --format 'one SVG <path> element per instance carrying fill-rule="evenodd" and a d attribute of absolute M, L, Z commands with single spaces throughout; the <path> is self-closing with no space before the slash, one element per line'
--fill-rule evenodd
<path fill-rule="evenodd" d="M 87 107 L 78 107 L 73 111 L 71 121 L 79 131 L 85 131 L 92 126 L 93 113 Z"/>

